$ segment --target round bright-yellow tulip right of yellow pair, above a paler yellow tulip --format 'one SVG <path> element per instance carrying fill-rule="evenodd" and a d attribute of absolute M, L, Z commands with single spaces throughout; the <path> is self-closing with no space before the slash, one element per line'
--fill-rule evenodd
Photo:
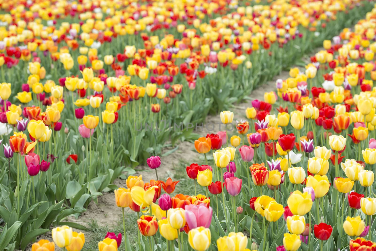
<path fill-rule="evenodd" d="M 311 194 L 294 191 L 287 199 L 287 205 L 294 215 L 305 215 L 312 208 Z"/>

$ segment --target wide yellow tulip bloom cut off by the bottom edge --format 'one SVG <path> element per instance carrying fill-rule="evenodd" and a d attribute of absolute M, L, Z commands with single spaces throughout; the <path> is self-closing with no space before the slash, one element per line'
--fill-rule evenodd
<path fill-rule="evenodd" d="M 248 238 L 241 232 L 230 232 L 228 236 L 217 239 L 218 251 L 246 251 L 247 244 Z"/>

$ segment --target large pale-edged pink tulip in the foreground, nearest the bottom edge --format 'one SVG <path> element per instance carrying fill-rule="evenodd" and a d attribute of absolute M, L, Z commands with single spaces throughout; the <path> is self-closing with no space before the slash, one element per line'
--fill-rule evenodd
<path fill-rule="evenodd" d="M 190 229 L 196 227 L 210 227 L 212 215 L 212 207 L 206 207 L 205 204 L 191 204 L 185 206 L 185 220 Z"/>

